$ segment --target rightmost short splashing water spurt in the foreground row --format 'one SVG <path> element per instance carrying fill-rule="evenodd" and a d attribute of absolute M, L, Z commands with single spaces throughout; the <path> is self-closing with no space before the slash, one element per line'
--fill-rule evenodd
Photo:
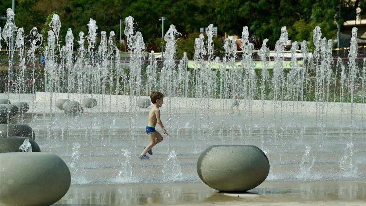
<path fill-rule="evenodd" d="M 339 161 L 340 172 L 344 177 L 354 177 L 357 172 L 357 163 L 352 159 L 354 146 L 352 142 L 347 143 L 346 151 Z"/>

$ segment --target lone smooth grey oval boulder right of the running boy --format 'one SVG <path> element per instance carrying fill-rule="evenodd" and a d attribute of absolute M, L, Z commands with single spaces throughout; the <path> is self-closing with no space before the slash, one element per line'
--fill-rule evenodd
<path fill-rule="evenodd" d="M 268 158 L 252 145 L 213 145 L 197 161 L 199 178 L 209 187 L 243 192 L 261 184 L 269 173 Z"/>

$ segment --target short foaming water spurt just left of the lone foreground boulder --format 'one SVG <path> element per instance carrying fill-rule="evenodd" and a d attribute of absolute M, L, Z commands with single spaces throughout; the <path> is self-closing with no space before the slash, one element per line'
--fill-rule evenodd
<path fill-rule="evenodd" d="M 165 181 L 182 181 L 183 174 L 181 167 L 177 158 L 175 150 L 169 153 L 169 157 L 165 160 L 163 169 L 163 179 Z"/>

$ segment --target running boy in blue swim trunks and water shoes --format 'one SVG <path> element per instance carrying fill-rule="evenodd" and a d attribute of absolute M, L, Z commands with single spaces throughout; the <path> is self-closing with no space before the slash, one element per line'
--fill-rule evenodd
<path fill-rule="evenodd" d="M 159 124 L 161 129 L 165 135 L 169 135 L 167 130 L 165 130 L 163 123 L 160 119 L 160 109 L 164 103 L 164 95 L 161 92 L 152 92 L 150 94 L 151 102 L 154 104 L 149 112 L 149 117 L 147 117 L 147 126 L 146 126 L 146 133 L 149 137 L 150 144 L 145 147 L 145 150 L 138 156 L 140 159 L 150 159 L 149 156 L 146 156 L 146 152 L 150 155 L 153 154 L 151 148 L 153 148 L 157 143 L 163 141 L 163 136 L 160 135 L 158 131 L 155 130 L 156 123 Z"/>

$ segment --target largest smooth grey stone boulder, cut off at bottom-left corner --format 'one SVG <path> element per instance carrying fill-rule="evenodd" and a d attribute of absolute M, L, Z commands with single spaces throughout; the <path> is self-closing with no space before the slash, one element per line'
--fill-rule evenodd
<path fill-rule="evenodd" d="M 49 152 L 0 153 L 0 205 L 48 206 L 70 188 L 70 170 Z"/>

